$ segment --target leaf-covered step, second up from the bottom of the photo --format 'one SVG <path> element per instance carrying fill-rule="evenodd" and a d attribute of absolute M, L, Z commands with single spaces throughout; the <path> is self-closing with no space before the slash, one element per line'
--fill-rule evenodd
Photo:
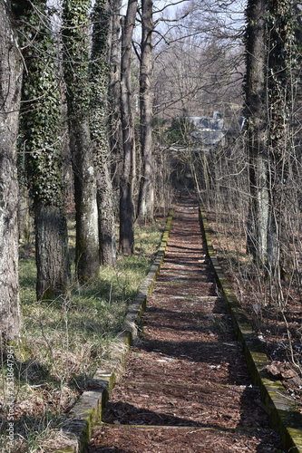
<path fill-rule="evenodd" d="M 257 388 L 128 382 L 117 384 L 103 421 L 127 425 L 268 428 Z"/>

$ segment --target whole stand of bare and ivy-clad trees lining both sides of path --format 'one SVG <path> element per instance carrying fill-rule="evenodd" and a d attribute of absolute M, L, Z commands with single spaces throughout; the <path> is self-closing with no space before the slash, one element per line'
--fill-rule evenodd
<path fill-rule="evenodd" d="M 80 282 L 114 265 L 117 217 L 119 250 L 132 254 L 135 220 L 152 222 L 156 191 L 163 197 L 171 163 L 211 203 L 221 196 L 242 206 L 248 253 L 276 287 L 289 268 L 297 271 L 297 250 L 288 253 L 297 246 L 300 212 L 297 2 L 188 0 L 163 21 L 168 5 L 129 0 L 121 14 L 122 2 L 113 0 L 0 0 L 5 339 L 15 337 L 20 323 L 18 162 L 19 184 L 22 179 L 34 212 L 37 298 L 68 291 L 66 149 Z M 237 147 L 204 152 L 188 146 L 170 156 L 175 125 L 212 111 L 224 115 L 229 130 L 239 128 L 244 114 L 247 128 Z M 186 143 L 190 131 L 182 135 Z"/>

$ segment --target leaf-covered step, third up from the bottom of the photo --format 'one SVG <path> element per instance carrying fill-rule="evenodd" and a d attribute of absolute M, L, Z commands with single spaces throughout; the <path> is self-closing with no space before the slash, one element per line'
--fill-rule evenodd
<path fill-rule="evenodd" d="M 123 376 L 125 381 L 137 382 L 250 384 L 248 366 L 238 342 L 219 345 L 187 342 L 172 346 L 170 342 L 159 344 L 155 340 L 141 342 L 140 348 L 132 348 Z"/>

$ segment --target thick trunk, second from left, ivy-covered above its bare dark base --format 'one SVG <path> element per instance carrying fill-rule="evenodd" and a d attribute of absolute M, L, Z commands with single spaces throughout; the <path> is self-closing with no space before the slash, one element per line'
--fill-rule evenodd
<path fill-rule="evenodd" d="M 37 10 L 41 14 L 37 14 Z M 52 299 L 66 293 L 70 276 L 58 55 L 46 1 L 21 5 L 17 14 L 27 68 L 22 93 L 20 147 L 24 151 L 28 185 L 34 200 L 36 294 L 38 299 Z"/>

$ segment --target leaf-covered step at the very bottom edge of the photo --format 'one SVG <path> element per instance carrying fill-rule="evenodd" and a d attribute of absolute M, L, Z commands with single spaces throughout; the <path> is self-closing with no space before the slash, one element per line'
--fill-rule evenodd
<path fill-rule="evenodd" d="M 95 429 L 93 441 L 102 453 L 264 453 L 276 451 L 276 438 L 271 429 L 258 427 L 242 430 L 105 424 Z M 176 451 L 175 443 L 181 449 Z"/>

